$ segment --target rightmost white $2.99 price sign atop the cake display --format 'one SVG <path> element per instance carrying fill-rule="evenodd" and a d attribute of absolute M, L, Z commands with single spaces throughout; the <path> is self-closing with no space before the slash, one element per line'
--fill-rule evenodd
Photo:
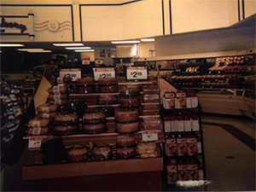
<path fill-rule="evenodd" d="M 126 67 L 126 78 L 129 80 L 148 79 L 147 67 Z"/>

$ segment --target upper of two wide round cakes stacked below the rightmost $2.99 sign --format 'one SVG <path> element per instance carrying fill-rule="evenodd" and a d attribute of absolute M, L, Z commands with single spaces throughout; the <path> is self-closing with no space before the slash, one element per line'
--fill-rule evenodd
<path fill-rule="evenodd" d="M 116 108 L 114 111 L 115 120 L 121 123 L 136 121 L 138 116 L 137 109 Z"/>

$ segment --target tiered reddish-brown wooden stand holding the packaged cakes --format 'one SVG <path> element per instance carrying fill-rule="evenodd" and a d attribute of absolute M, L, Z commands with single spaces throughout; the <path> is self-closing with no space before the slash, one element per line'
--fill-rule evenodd
<path fill-rule="evenodd" d="M 128 82 L 119 84 L 151 84 L 151 82 Z M 70 99 L 84 96 L 119 95 L 119 93 L 71 94 Z M 110 107 L 118 107 L 111 105 Z M 109 107 L 91 105 L 88 108 Z M 140 116 L 140 118 L 155 117 Z M 158 115 L 159 117 L 159 115 Z M 108 117 L 107 119 L 114 119 Z M 72 135 L 62 137 L 64 144 L 85 142 L 115 143 L 118 133 L 96 135 Z M 137 141 L 142 140 L 142 131 L 135 134 Z M 48 139 L 54 136 L 42 136 Z M 29 139 L 30 137 L 24 137 Z M 157 143 L 165 141 L 164 131 L 159 131 Z M 45 165 L 39 148 L 27 149 L 23 159 L 22 178 L 26 190 L 160 190 L 161 172 L 164 170 L 163 158 L 84 161 Z"/>

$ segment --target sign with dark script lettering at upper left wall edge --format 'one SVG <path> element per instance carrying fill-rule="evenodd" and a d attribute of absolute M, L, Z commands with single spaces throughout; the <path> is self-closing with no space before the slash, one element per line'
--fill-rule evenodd
<path fill-rule="evenodd" d="M 0 15 L 0 34 L 33 37 L 33 15 Z"/>

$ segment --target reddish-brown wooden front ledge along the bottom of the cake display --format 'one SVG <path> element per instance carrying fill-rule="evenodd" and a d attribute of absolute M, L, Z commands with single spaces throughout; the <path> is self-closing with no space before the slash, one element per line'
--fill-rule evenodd
<path fill-rule="evenodd" d="M 22 178 L 24 180 L 163 171 L 162 157 L 148 159 L 90 161 L 55 165 L 32 165 L 32 161 L 36 160 L 35 155 L 25 155 L 26 160 L 23 161 L 24 163 L 22 166 Z"/>

